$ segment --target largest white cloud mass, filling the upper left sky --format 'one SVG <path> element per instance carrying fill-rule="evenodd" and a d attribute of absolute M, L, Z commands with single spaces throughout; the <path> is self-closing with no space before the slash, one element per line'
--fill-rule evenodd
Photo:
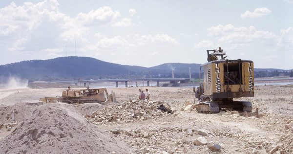
<path fill-rule="evenodd" d="M 95 46 L 97 40 L 90 39 L 105 36 L 93 35 L 96 32 L 91 33 L 91 28 L 111 25 L 121 16 L 118 11 L 105 6 L 71 18 L 60 12 L 58 6 L 57 0 L 44 0 L 39 3 L 25 2 L 20 6 L 12 2 L 0 8 L 0 38 L 5 37 L 2 47 L 9 51 L 44 52 L 47 48 L 66 44 L 68 47 L 75 40 L 81 47 Z M 121 24 L 129 23 L 122 19 Z"/>

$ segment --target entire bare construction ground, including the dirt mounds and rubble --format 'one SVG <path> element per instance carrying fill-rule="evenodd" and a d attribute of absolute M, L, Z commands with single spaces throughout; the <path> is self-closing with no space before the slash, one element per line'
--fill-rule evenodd
<path fill-rule="evenodd" d="M 193 109 L 192 88 L 148 89 L 150 101 L 136 100 L 138 88 L 108 88 L 119 103 L 76 106 L 38 103 L 63 88 L 0 89 L 0 152 L 293 153 L 293 87 L 257 86 L 255 97 L 239 99 L 252 102 L 251 113 L 217 114 Z"/>

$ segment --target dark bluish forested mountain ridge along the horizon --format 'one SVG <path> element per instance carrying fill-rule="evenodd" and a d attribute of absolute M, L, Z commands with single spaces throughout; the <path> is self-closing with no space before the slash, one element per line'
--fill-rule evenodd
<path fill-rule="evenodd" d="M 201 64 L 166 63 L 153 67 L 128 66 L 109 63 L 90 57 L 59 57 L 49 60 L 30 60 L 0 65 L 0 77 L 16 76 L 32 81 L 114 79 L 114 78 L 149 78 L 172 77 L 192 78 L 199 76 Z M 257 71 L 288 71 L 274 68 L 255 68 Z"/>

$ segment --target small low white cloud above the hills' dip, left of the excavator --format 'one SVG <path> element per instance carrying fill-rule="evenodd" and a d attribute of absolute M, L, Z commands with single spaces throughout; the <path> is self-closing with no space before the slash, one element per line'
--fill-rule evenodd
<path fill-rule="evenodd" d="M 167 34 L 157 34 L 155 36 L 152 35 L 142 35 L 140 36 L 140 44 L 147 43 L 167 43 L 167 44 L 178 44 L 178 42 L 168 36 Z"/>

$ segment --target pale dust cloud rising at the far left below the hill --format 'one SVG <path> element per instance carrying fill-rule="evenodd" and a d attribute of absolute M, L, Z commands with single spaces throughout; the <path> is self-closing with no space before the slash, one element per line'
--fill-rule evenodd
<path fill-rule="evenodd" d="M 3 89 L 27 88 L 27 85 L 27 79 L 20 79 L 18 77 L 9 77 L 0 81 L 0 88 Z"/>

